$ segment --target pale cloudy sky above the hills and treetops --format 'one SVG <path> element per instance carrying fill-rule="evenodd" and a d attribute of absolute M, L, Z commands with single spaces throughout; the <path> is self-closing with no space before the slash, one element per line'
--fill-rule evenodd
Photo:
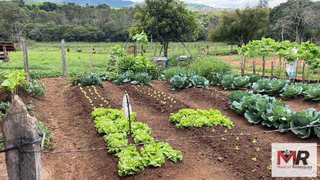
<path fill-rule="evenodd" d="M 141 2 L 143 0 L 131 0 L 134 2 Z M 198 4 L 205 4 L 208 6 L 212 6 L 212 7 L 221 7 L 221 8 L 239 8 L 239 7 L 243 7 L 246 4 L 257 4 L 259 2 L 259 0 L 254 0 L 254 1 L 250 1 L 250 0 L 184 0 L 184 2 L 186 3 L 198 3 Z M 270 7 L 274 7 L 276 5 L 279 5 L 280 3 L 284 3 L 286 2 L 286 0 L 269 0 L 269 6 Z"/>

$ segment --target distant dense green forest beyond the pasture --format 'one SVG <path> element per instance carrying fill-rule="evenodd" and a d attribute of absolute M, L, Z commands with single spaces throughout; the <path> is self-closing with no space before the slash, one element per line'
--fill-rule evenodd
<path fill-rule="evenodd" d="M 35 41 L 124 42 L 137 11 L 138 6 L 115 9 L 106 4 L 0 1 L 0 40 L 17 40 L 23 35 Z M 196 40 L 206 40 L 209 29 L 218 23 L 218 15 L 197 13 L 197 18 L 200 33 Z"/>

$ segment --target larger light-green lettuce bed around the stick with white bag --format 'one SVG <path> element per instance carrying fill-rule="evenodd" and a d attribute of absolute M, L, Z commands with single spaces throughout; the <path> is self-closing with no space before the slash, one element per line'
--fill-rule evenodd
<path fill-rule="evenodd" d="M 135 143 L 151 143 L 154 142 L 150 137 L 151 128 L 147 124 L 141 122 L 134 122 L 136 113 L 131 113 L 131 127 L 132 137 Z M 104 135 L 104 140 L 108 147 L 117 147 L 128 145 L 126 139 L 129 134 L 129 121 L 124 119 L 123 110 L 95 108 L 92 111 L 92 118 L 94 118 L 94 126 L 100 134 Z M 173 150 L 168 143 L 151 143 L 145 144 L 141 148 L 141 154 L 137 152 L 135 146 L 126 148 L 112 148 L 109 153 L 117 152 L 119 157 L 118 173 L 119 176 L 127 176 L 129 174 L 136 174 L 144 170 L 148 166 L 161 166 L 169 159 L 173 162 L 182 160 L 180 151 Z"/>

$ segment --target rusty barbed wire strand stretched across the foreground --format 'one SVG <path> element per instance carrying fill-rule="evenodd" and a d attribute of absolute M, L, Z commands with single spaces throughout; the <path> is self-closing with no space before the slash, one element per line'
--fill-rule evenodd
<path fill-rule="evenodd" d="M 92 151 L 97 151 L 97 150 L 107 150 L 107 149 L 114 149 L 114 148 L 126 148 L 130 146 L 138 146 L 138 145 L 145 145 L 145 144 L 153 144 L 153 143 L 162 143 L 162 142 L 172 142 L 172 141 L 182 141 L 182 140 L 188 140 L 188 139 L 197 139 L 197 138 L 218 138 L 218 137 L 224 137 L 224 136 L 244 136 L 244 135 L 259 135 L 259 134 L 266 134 L 266 133 L 273 133 L 273 132 L 278 132 L 278 131 L 287 131 L 287 130 L 302 130 L 304 128 L 308 127 L 320 127 L 320 124 L 318 125 L 310 125 L 310 126 L 303 126 L 303 127 L 293 127 L 293 128 L 288 128 L 288 129 L 276 129 L 276 130 L 270 130 L 270 131 L 261 131 L 257 133 L 249 133 L 249 134 L 223 134 L 223 135 L 216 135 L 216 136 L 211 136 L 211 135 L 194 135 L 191 137 L 184 137 L 184 138 L 179 138 L 179 139 L 169 139 L 169 140 L 157 140 L 149 143 L 137 143 L 137 144 L 130 144 L 130 145 L 123 145 L 123 146 L 116 146 L 116 147 L 104 147 L 104 148 L 93 148 L 93 149 L 86 149 L 86 150 L 70 150 L 70 151 L 30 151 L 30 150 L 21 150 L 22 152 L 32 152 L 32 153 L 42 153 L 42 154 L 60 154 L 60 153 L 70 153 L 70 152 L 92 152 Z M 20 146 L 21 147 L 21 146 Z M 14 149 L 18 149 L 14 148 Z M 5 151 L 5 150 L 4 150 Z M 1 153 L 1 151 L 0 151 Z"/>

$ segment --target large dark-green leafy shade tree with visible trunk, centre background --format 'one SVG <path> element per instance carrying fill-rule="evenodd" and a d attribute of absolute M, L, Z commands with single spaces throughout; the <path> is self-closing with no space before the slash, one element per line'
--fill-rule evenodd
<path fill-rule="evenodd" d="M 180 0 L 145 0 L 134 18 L 137 23 L 130 29 L 130 37 L 144 30 L 163 43 L 164 56 L 168 56 L 168 44 L 173 38 L 194 40 L 199 32 L 196 14 Z"/>

